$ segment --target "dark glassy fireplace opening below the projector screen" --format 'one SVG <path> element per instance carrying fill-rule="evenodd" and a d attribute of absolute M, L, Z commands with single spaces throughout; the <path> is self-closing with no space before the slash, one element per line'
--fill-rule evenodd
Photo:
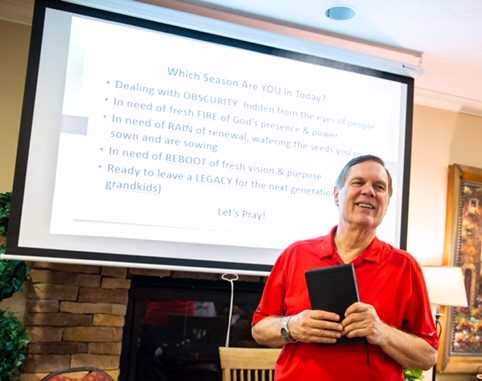
<path fill-rule="evenodd" d="M 258 346 L 251 318 L 263 287 L 262 281 L 134 276 L 119 380 L 221 381 L 220 346 Z"/>

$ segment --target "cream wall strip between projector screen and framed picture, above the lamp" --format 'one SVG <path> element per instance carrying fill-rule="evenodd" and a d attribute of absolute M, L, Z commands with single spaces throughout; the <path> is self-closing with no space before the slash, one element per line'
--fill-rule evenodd
<path fill-rule="evenodd" d="M 441 264 L 447 170 L 457 114 L 416 106 L 407 249 L 422 265 Z M 482 164 L 482 163 L 481 163 Z"/>

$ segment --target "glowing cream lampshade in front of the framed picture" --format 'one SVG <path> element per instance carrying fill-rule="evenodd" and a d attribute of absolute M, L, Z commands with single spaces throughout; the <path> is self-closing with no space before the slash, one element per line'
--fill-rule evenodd
<path fill-rule="evenodd" d="M 431 304 L 467 307 L 467 293 L 460 267 L 423 267 L 422 270 Z"/>

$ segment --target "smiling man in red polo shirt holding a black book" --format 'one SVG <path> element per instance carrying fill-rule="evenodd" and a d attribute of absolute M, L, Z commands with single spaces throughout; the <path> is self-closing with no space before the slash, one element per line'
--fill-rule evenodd
<path fill-rule="evenodd" d="M 277 381 L 402 381 L 403 368 L 427 370 L 436 363 L 438 336 L 421 268 L 376 237 L 391 195 L 392 179 L 380 158 L 353 158 L 334 189 L 338 225 L 281 253 L 252 327 L 259 344 L 284 346 Z M 343 263 L 355 267 L 361 302 L 344 316 L 312 310 L 306 270 Z M 343 335 L 366 341 L 336 344 Z"/>

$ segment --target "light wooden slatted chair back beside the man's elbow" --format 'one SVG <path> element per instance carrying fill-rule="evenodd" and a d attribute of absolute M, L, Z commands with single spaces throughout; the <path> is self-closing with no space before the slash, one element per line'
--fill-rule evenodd
<path fill-rule="evenodd" d="M 280 348 L 219 347 L 223 381 L 273 381 Z"/>

